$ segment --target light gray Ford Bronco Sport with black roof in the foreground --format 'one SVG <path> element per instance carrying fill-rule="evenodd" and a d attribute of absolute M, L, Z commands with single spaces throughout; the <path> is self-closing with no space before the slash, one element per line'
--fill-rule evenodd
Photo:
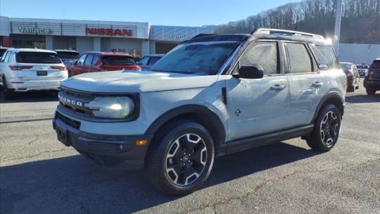
<path fill-rule="evenodd" d="M 160 191 L 187 194 L 216 156 L 294 137 L 329 151 L 345 95 L 346 75 L 322 36 L 199 34 L 150 71 L 65 80 L 53 128 L 96 163 L 145 168 Z"/>

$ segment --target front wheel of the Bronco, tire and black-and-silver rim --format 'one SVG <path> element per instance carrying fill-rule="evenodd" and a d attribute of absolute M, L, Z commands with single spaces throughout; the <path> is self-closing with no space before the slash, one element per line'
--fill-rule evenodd
<path fill-rule="evenodd" d="M 198 141 L 193 143 L 193 149 L 188 148 L 193 145 L 188 146 L 190 139 Z M 207 180 L 214 156 L 214 143 L 208 130 L 196 122 L 182 120 L 166 125 L 153 139 L 146 157 L 146 172 L 153 185 L 163 193 L 189 194 Z"/>

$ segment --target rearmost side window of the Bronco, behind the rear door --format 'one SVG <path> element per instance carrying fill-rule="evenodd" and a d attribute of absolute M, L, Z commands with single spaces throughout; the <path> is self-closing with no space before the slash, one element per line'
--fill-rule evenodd
<path fill-rule="evenodd" d="M 331 46 L 310 44 L 310 48 L 314 53 L 318 65 L 327 65 L 329 68 L 336 68 L 338 61 L 336 60 L 334 49 Z"/>

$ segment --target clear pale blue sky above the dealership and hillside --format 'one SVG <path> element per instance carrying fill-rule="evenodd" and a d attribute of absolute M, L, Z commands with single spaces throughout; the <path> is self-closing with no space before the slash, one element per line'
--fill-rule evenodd
<path fill-rule="evenodd" d="M 148 22 L 153 25 L 216 25 L 255 15 L 290 0 L 0 0 L 0 15 Z"/>

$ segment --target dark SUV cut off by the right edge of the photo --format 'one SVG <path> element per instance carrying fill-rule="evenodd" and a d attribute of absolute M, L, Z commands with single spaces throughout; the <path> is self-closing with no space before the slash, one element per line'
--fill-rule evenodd
<path fill-rule="evenodd" d="M 380 90 L 380 58 L 375 59 L 369 67 L 364 86 L 369 95 L 376 94 L 376 91 Z"/>

